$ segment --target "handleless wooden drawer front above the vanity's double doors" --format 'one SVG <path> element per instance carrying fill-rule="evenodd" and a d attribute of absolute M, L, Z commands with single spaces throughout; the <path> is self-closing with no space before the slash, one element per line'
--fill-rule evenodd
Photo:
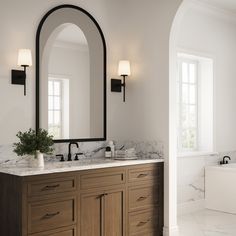
<path fill-rule="evenodd" d="M 81 189 L 100 188 L 125 183 L 125 171 L 107 171 L 96 174 L 82 174 Z"/>

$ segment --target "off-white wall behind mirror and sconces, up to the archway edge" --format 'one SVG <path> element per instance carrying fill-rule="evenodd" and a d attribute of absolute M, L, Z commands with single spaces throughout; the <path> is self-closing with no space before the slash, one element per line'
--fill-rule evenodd
<path fill-rule="evenodd" d="M 88 10 L 99 22 L 108 49 L 108 139 L 163 141 L 165 162 L 165 233 L 176 227 L 175 165 L 169 157 L 169 36 L 182 0 L 68 0 Z M 0 8 L 0 144 L 15 141 L 18 130 L 35 124 L 35 62 L 28 70 L 27 97 L 10 85 L 17 50 L 31 48 L 42 16 L 63 0 L 8 0 Z M 111 94 L 120 59 L 131 61 L 126 103 Z M 169 170 L 171 175 L 169 175 Z M 172 214 L 169 214 L 172 212 Z M 169 229 L 169 226 L 171 229 Z"/>

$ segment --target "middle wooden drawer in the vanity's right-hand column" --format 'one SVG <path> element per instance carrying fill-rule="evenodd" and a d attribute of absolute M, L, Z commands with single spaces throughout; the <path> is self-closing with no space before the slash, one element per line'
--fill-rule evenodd
<path fill-rule="evenodd" d="M 142 210 L 160 204 L 160 187 L 158 184 L 129 188 L 129 211 Z"/>

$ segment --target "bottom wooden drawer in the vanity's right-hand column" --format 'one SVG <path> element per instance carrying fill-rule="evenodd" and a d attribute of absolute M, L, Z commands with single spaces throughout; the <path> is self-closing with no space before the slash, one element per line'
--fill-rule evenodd
<path fill-rule="evenodd" d="M 153 209 L 154 210 L 154 209 Z M 129 214 L 129 235 L 155 235 L 158 230 L 158 211 L 145 211 Z"/>

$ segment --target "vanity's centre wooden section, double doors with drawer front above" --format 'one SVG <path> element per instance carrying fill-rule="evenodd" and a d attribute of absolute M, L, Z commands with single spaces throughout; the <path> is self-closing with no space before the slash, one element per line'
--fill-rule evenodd
<path fill-rule="evenodd" d="M 80 235 L 125 235 L 125 183 L 125 168 L 81 173 Z"/>

